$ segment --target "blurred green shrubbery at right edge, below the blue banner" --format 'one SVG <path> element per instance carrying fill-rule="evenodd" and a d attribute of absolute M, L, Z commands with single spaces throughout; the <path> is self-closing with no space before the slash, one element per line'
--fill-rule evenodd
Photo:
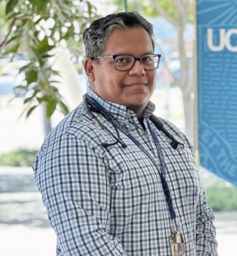
<path fill-rule="evenodd" d="M 237 188 L 225 186 L 225 182 L 210 185 L 205 188 L 206 199 L 213 211 L 236 211 Z"/>

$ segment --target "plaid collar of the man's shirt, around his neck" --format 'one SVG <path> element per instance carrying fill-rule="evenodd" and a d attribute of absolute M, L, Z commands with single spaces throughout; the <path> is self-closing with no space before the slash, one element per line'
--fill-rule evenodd
<path fill-rule="evenodd" d="M 126 123 L 126 120 L 129 120 L 131 117 L 134 118 L 136 116 L 133 110 L 128 109 L 124 105 L 119 105 L 101 98 L 90 88 L 88 88 L 87 93 L 90 97 L 94 98 L 103 108 L 109 111 L 117 119 L 117 121 L 121 123 Z M 153 102 L 149 101 L 147 103 L 143 114 L 143 118 L 145 121 L 147 121 L 149 116 L 154 112 L 155 108 L 156 107 Z"/>

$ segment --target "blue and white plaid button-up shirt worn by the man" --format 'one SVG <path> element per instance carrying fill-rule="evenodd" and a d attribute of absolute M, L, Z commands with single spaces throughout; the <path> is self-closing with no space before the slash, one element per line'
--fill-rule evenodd
<path fill-rule="evenodd" d="M 156 131 L 167 165 L 166 180 L 181 223 L 186 256 L 216 256 L 214 215 L 200 186 L 193 149 L 185 136 L 164 121 L 171 134 L 187 144 L 173 149 L 170 139 L 150 120 L 155 106 L 149 102 L 143 129 L 136 114 L 125 106 L 88 94 L 128 128 L 156 159 L 157 149 L 148 128 Z M 103 116 L 95 113 L 116 134 Z M 159 173 L 151 160 L 126 135 L 120 143 L 104 148 L 114 139 L 85 111 L 75 108 L 47 136 L 33 170 L 57 235 L 57 255 L 171 256 L 172 221 Z"/>

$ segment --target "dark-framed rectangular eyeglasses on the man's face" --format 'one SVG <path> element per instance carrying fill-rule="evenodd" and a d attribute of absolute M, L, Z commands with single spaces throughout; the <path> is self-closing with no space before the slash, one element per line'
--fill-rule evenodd
<path fill-rule="evenodd" d="M 160 54 L 145 54 L 140 58 L 136 58 L 130 54 L 121 55 L 98 55 L 95 58 L 113 58 L 114 67 L 120 71 L 128 71 L 133 68 L 137 60 L 140 61 L 141 66 L 145 70 L 154 70 L 159 66 Z"/>

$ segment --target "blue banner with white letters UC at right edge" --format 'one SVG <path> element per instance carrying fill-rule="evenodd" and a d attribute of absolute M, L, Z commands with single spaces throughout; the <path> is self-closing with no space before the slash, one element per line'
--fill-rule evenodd
<path fill-rule="evenodd" d="M 237 0 L 197 0 L 200 164 L 237 186 Z"/>

